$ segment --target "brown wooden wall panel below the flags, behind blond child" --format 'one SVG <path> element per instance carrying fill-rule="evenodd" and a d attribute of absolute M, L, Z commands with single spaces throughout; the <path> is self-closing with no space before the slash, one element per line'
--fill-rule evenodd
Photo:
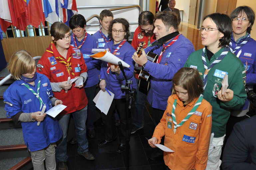
<path fill-rule="evenodd" d="M 12 54 L 18 50 L 27 50 L 32 57 L 42 56 L 51 42 L 50 36 L 44 37 L 23 37 L 23 38 L 8 38 L 2 40 L 4 55 L 7 62 Z"/>

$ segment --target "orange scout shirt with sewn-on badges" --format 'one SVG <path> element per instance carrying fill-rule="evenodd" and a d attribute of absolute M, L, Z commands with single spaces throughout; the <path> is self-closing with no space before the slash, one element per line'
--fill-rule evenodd
<path fill-rule="evenodd" d="M 166 110 L 160 123 L 156 126 L 153 137 L 161 141 L 165 135 L 164 145 L 174 152 L 164 152 L 164 162 L 171 170 L 204 170 L 207 165 L 208 149 L 210 143 L 212 106 L 205 99 L 194 114 L 176 129 L 171 116 L 172 105 L 177 99 L 175 117 L 179 124 L 194 107 L 197 99 L 183 106 L 176 94 L 169 96 Z"/>

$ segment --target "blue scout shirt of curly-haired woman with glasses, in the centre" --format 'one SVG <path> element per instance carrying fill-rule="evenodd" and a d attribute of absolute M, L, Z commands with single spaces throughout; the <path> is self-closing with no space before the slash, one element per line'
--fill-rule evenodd
<path fill-rule="evenodd" d="M 114 41 L 110 41 L 105 45 L 104 48 L 109 49 L 109 51 L 113 53 L 119 45 L 120 43 L 114 45 Z M 125 42 L 125 44 L 117 51 L 116 57 L 120 58 L 128 65 L 130 65 L 130 68 L 124 67 L 124 71 L 126 72 L 126 78 L 128 80 L 132 80 L 133 84 L 131 85 L 131 87 L 136 89 L 137 84 L 133 76 L 135 63 L 131 58 L 134 52 L 134 48 L 128 42 Z M 108 75 L 107 68 L 107 62 L 102 61 L 100 79 L 106 80 L 106 88 L 115 94 L 115 99 L 125 98 L 125 93 L 122 93 L 121 91 L 121 85 L 125 85 L 125 78 L 122 71 L 120 75 L 117 76 L 116 73 L 111 72 L 110 70 Z"/>

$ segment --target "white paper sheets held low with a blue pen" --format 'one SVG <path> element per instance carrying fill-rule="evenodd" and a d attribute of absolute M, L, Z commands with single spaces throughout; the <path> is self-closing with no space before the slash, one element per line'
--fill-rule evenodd
<path fill-rule="evenodd" d="M 102 91 L 100 90 L 99 93 L 95 96 L 95 98 L 93 99 L 93 101 L 96 103 L 96 107 L 99 108 L 101 110 L 101 112 L 103 112 L 104 114 L 108 114 L 110 105 L 114 99 L 114 93 L 112 93 L 111 91 L 109 91 L 111 93 L 111 95 L 109 95 L 109 93 L 107 91 Z"/>

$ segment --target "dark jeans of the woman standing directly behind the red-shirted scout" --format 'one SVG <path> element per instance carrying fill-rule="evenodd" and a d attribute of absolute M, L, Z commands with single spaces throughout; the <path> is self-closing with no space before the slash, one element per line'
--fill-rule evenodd
<path fill-rule="evenodd" d="M 95 119 L 95 103 L 93 99 L 95 97 L 97 85 L 93 85 L 91 87 L 85 88 L 85 93 L 88 99 L 88 108 L 87 108 L 87 121 L 86 121 L 86 128 L 87 129 L 94 129 L 94 119 Z"/>

